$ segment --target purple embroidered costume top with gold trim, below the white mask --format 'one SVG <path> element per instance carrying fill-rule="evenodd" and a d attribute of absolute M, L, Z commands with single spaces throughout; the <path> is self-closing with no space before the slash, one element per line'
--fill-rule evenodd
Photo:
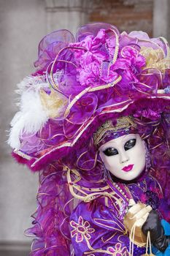
<path fill-rule="evenodd" d="M 71 238 L 76 256 L 129 255 L 130 241 L 123 225 L 129 197 L 136 203 L 152 206 L 161 218 L 168 221 L 170 219 L 161 186 L 152 176 L 144 174 L 138 181 L 129 184 L 115 184 L 112 181 L 108 184 L 112 197 L 102 195 L 88 203 L 81 202 L 70 217 Z M 134 245 L 134 256 L 143 255 L 145 251 L 145 247 Z"/>

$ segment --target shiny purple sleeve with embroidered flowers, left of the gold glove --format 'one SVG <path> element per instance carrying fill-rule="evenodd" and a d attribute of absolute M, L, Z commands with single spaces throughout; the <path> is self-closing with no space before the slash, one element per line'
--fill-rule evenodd
<path fill-rule="evenodd" d="M 76 256 L 128 255 L 129 238 L 123 221 L 104 200 L 80 203 L 72 213 L 70 228 Z M 144 248 L 134 247 L 134 255 L 145 252 Z"/>

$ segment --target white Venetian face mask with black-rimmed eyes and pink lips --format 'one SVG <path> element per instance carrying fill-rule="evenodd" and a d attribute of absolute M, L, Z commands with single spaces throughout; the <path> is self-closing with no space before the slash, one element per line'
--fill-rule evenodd
<path fill-rule="evenodd" d="M 99 154 L 107 170 L 125 181 L 137 178 L 145 167 L 146 148 L 139 134 L 109 140 L 99 148 Z"/>

